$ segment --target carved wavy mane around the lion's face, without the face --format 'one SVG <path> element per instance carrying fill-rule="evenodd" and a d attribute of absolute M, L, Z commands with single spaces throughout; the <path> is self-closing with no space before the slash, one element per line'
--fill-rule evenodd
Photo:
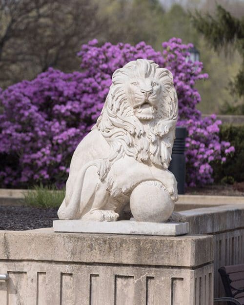
<path fill-rule="evenodd" d="M 124 90 L 124 80 L 153 77 L 162 85 L 155 119 L 140 121 L 133 112 Z M 139 162 L 167 168 L 171 160 L 178 100 L 169 70 L 154 61 L 137 60 L 114 72 L 112 85 L 97 121 L 102 136 L 110 144 L 111 162 L 124 155 Z M 173 133 L 173 134 L 172 134 Z"/>

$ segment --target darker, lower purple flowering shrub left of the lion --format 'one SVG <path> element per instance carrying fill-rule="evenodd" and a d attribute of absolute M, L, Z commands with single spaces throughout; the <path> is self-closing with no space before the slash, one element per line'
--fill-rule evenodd
<path fill-rule="evenodd" d="M 71 155 L 93 123 L 82 80 L 79 72 L 49 68 L 0 93 L 1 186 L 64 183 Z"/>

